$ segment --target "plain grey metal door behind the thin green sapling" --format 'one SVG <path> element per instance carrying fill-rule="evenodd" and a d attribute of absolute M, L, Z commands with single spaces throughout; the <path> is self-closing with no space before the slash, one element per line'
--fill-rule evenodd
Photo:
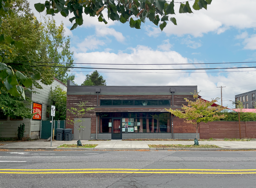
<path fill-rule="evenodd" d="M 82 118 L 82 128 L 80 132 L 81 140 L 90 140 L 91 139 L 91 118 Z M 76 120 L 76 118 L 75 118 Z M 74 126 L 74 140 L 79 140 L 79 131 Z"/>

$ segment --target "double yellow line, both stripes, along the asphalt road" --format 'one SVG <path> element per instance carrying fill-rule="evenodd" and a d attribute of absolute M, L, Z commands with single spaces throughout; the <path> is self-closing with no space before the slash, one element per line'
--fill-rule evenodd
<path fill-rule="evenodd" d="M 75 174 L 75 173 L 86 173 L 86 174 L 90 174 L 90 173 L 256 174 L 256 169 L 155 169 L 155 168 L 154 169 L 133 169 L 133 168 L 0 169 L 0 174 Z"/>

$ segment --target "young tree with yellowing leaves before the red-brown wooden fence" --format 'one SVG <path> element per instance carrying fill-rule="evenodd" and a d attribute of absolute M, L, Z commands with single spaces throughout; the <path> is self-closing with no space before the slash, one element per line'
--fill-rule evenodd
<path fill-rule="evenodd" d="M 180 111 L 178 109 L 172 110 L 171 108 L 165 110 L 179 118 L 183 118 L 184 122 L 191 123 L 196 128 L 197 133 L 200 122 L 207 123 L 208 121 L 216 121 L 221 118 L 225 118 L 225 114 L 217 113 L 226 109 L 226 107 L 211 106 L 215 102 L 217 102 L 218 98 L 212 99 L 211 101 L 206 101 L 202 98 L 198 98 L 197 92 L 194 93 L 193 97 L 197 98 L 196 101 L 191 101 L 187 98 L 184 98 L 188 105 L 183 105 L 183 107 L 181 108 L 183 111 Z"/>

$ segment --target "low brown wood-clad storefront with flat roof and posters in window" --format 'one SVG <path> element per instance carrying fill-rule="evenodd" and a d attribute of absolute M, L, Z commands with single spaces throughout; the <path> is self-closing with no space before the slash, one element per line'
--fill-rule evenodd
<path fill-rule="evenodd" d="M 67 83 L 67 108 L 88 101 L 81 139 L 193 139 L 196 130 L 165 108 L 181 109 L 197 86 L 77 86 Z M 71 114 L 67 111 L 67 117 Z M 66 128 L 74 129 L 71 124 Z M 73 130 L 74 139 L 79 133 Z M 97 133 L 97 134 L 96 134 Z"/>

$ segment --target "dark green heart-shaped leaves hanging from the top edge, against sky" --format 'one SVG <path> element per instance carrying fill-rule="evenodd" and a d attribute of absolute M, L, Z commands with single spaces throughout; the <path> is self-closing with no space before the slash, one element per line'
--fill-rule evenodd
<path fill-rule="evenodd" d="M 212 0 L 195 0 L 192 7 L 194 10 L 202 8 L 207 10 L 207 5 L 211 2 Z M 46 8 L 46 13 L 51 15 L 60 12 L 62 16 L 67 17 L 69 13 L 74 13 L 74 17 L 69 19 L 70 22 L 75 20 L 71 30 L 83 24 L 83 13 L 93 17 L 97 16 L 100 22 L 107 24 L 102 14 L 104 9 L 107 9 L 108 18 L 113 21 L 119 20 L 121 23 L 129 21 L 130 27 L 140 29 L 141 22 L 145 23 L 148 18 L 156 26 L 160 22 L 159 27 L 163 30 L 167 24 L 166 21 L 170 20 L 177 25 L 176 19 L 170 16 L 170 14 L 175 14 L 175 3 L 180 4 L 179 13 L 193 13 L 189 1 L 178 3 L 174 0 L 49 0 L 44 4 L 37 3 L 34 6 L 38 12 L 43 12 Z"/>

